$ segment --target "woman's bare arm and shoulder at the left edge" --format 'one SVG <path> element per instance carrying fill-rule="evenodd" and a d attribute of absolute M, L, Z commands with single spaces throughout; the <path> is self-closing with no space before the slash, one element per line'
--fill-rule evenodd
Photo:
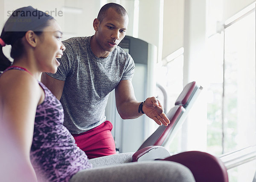
<path fill-rule="evenodd" d="M 41 87 L 37 80 L 26 72 L 8 71 L 1 76 L 0 90 L 3 106 L 1 122 L 14 140 L 17 149 L 17 151 L 10 152 L 14 154 L 18 152 L 19 156 L 23 157 L 23 161 L 26 162 L 24 167 L 30 170 L 28 179 L 36 181 L 29 154 L 34 132 L 35 112 L 38 103 L 42 100 Z"/>

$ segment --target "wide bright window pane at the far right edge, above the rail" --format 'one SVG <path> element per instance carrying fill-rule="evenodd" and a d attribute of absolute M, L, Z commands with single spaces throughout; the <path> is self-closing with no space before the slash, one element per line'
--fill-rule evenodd
<path fill-rule="evenodd" d="M 224 152 L 256 144 L 255 13 L 225 30 Z"/>

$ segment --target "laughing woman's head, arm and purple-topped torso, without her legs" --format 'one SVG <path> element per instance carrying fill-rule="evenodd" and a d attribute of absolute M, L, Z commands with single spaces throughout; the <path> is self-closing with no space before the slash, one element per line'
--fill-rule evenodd
<path fill-rule="evenodd" d="M 37 80 L 43 71 L 57 71 L 60 63 L 56 58 L 63 55 L 65 47 L 61 43 L 61 28 L 53 17 L 44 14 L 39 19 L 33 11 L 44 14 L 31 6 L 15 10 L 0 36 L 1 46 L 12 45 L 14 59 L 0 77 L 1 121 L 11 129 L 32 172 L 34 168 L 37 175 L 54 181 L 58 170 L 58 180 L 68 181 L 91 164 L 62 125 L 61 103 Z M 24 17 L 22 13 L 31 16 Z M 4 65 L 11 65 L 5 57 L 1 61 L 2 70 Z"/>

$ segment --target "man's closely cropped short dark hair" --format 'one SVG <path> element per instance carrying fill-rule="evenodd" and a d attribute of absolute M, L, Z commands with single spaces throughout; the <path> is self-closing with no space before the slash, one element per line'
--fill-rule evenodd
<path fill-rule="evenodd" d="M 102 6 L 102 8 L 99 10 L 97 19 L 100 22 L 102 22 L 102 20 L 106 17 L 106 14 L 109 8 L 113 8 L 118 14 L 122 16 L 128 15 L 127 11 L 121 5 L 116 3 L 108 3 Z"/>

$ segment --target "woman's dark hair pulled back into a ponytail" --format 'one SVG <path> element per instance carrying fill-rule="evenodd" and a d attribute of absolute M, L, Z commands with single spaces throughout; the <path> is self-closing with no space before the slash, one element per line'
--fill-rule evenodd
<path fill-rule="evenodd" d="M 11 57 L 17 59 L 22 56 L 24 46 L 21 41 L 27 31 L 32 30 L 37 35 L 43 33 L 43 29 L 49 26 L 49 21 L 54 19 L 49 14 L 34 9 L 32 6 L 23 7 L 13 11 L 6 21 L 0 38 L 6 45 L 11 45 Z M 3 43 L 2 43 L 3 44 Z M 5 70 L 12 62 L 3 54 L 4 45 L 0 44 L 0 71 Z"/>

